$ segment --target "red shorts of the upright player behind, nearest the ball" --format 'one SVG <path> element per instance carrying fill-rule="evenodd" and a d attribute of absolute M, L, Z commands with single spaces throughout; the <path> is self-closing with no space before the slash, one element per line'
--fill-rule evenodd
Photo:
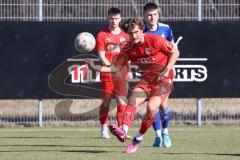
<path fill-rule="evenodd" d="M 127 80 L 119 81 L 101 81 L 102 98 L 110 99 L 113 96 L 127 97 L 128 82 Z"/>

